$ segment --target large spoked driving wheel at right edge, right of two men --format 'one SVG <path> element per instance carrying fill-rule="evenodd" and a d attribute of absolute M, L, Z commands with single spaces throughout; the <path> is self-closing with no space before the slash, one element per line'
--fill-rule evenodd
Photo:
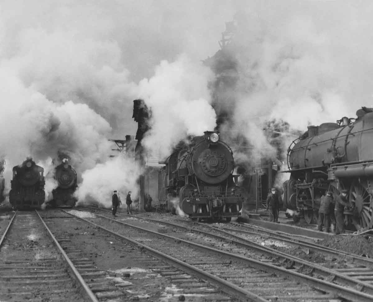
<path fill-rule="evenodd" d="M 361 183 L 355 180 L 350 189 L 350 201 L 354 204 L 359 216 L 360 227 L 363 229 L 372 227 L 372 195 L 370 195 Z"/>

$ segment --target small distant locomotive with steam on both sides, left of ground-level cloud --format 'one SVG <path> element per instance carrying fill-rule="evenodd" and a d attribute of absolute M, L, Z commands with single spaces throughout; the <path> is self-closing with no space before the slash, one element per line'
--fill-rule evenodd
<path fill-rule="evenodd" d="M 76 172 L 68 162 L 64 162 L 56 167 L 55 179 L 58 187 L 52 191 L 52 207 L 73 207 L 76 198 L 73 196 L 76 190 Z"/>

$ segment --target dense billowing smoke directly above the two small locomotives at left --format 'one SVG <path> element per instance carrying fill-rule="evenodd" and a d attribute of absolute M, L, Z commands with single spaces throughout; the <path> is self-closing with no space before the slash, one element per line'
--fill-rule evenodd
<path fill-rule="evenodd" d="M 1 64 L 0 64 L 1 65 Z M 86 104 L 71 101 L 56 104 L 32 88 L 26 88 L 7 69 L 0 68 L 0 155 L 6 160 L 4 177 L 6 194 L 10 189 L 12 168 L 32 157 L 44 168 L 46 199 L 56 187 L 53 180 L 52 159 L 58 152 L 71 158 L 76 170 L 95 166 L 109 156 L 109 123 Z M 6 130 L 5 130 L 6 129 Z M 57 160 L 58 163 L 58 160 Z"/>

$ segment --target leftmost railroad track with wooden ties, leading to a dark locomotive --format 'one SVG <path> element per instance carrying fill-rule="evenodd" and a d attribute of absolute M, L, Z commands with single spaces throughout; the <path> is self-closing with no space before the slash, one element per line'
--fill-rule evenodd
<path fill-rule="evenodd" d="M 0 301 L 97 301 L 37 211 L 16 212 L 1 236 Z"/>

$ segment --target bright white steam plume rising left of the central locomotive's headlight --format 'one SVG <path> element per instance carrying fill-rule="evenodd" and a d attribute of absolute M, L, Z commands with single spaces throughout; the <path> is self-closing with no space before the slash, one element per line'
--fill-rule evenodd
<path fill-rule="evenodd" d="M 211 71 L 186 56 L 161 62 L 155 75 L 139 84 L 139 97 L 151 108 L 151 130 L 143 145 L 153 156 L 165 158 L 188 135 L 203 135 L 216 126 L 207 88 Z"/>

